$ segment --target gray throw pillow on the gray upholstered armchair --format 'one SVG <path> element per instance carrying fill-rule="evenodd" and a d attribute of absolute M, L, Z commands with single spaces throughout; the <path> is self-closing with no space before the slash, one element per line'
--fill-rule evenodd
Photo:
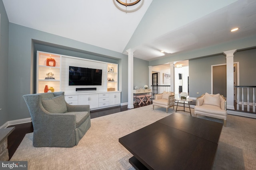
<path fill-rule="evenodd" d="M 63 95 L 50 99 L 42 99 L 42 105 L 50 113 L 66 113 L 68 111 Z"/>

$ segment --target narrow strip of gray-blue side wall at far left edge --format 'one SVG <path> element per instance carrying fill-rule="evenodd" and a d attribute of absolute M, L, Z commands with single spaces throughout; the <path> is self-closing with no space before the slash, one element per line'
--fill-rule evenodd
<path fill-rule="evenodd" d="M 8 120 L 8 41 L 9 20 L 4 9 L 3 1 L 0 0 L 0 126 Z"/>

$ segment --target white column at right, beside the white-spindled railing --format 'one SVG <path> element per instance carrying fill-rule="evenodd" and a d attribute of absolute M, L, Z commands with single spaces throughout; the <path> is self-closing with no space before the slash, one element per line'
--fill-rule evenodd
<path fill-rule="evenodd" d="M 236 49 L 223 52 L 227 64 L 227 109 L 234 110 L 234 53 Z"/>

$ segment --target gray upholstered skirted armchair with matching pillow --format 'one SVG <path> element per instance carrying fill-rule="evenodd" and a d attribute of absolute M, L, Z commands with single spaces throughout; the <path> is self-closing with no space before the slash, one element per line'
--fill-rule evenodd
<path fill-rule="evenodd" d="M 64 92 L 23 96 L 31 115 L 34 147 L 74 147 L 91 126 L 89 105 L 69 105 Z"/>

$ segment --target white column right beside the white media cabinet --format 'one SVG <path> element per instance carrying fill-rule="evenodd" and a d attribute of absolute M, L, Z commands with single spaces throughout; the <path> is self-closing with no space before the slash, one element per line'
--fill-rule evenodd
<path fill-rule="evenodd" d="M 133 106 L 133 50 L 126 50 L 128 53 L 128 108 Z"/>

